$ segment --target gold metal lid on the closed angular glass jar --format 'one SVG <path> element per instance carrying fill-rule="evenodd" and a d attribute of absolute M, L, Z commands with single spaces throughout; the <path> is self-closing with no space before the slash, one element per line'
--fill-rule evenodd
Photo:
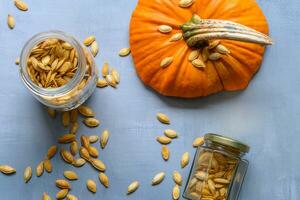
<path fill-rule="evenodd" d="M 232 139 L 230 137 L 226 137 L 215 133 L 205 134 L 204 140 L 218 143 L 224 146 L 232 147 L 242 153 L 248 153 L 250 151 L 250 147 L 247 144 Z"/>

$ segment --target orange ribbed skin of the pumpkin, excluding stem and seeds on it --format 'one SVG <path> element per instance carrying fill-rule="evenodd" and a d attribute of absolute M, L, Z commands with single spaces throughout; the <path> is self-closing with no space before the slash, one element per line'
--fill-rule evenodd
<path fill-rule="evenodd" d="M 136 71 L 142 81 L 166 96 L 193 98 L 223 90 L 247 87 L 263 59 L 263 45 L 221 40 L 231 53 L 218 61 L 208 61 L 206 68 L 195 68 L 187 57 L 192 51 L 185 40 L 170 42 L 181 33 L 180 26 L 193 14 L 203 19 L 233 21 L 268 34 L 266 18 L 254 0 L 195 0 L 189 8 L 179 0 L 139 0 L 130 23 L 130 46 Z M 157 31 L 169 25 L 172 33 Z M 161 68 L 160 62 L 174 56 L 173 63 Z"/>

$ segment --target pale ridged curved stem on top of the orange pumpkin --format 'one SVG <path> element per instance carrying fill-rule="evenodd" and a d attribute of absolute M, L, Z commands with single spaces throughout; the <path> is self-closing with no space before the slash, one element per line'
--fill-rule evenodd
<path fill-rule="evenodd" d="M 190 21 L 181 26 L 183 37 L 190 47 L 203 47 L 209 40 L 229 39 L 262 45 L 273 44 L 272 39 L 247 26 L 216 19 L 201 19 L 193 15 Z"/>

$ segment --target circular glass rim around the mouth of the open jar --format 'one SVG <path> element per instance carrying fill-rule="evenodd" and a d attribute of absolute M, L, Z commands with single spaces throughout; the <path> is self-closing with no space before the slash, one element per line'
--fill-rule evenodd
<path fill-rule="evenodd" d="M 58 87 L 58 88 L 42 88 L 36 85 L 30 78 L 27 72 L 27 61 L 29 59 L 31 50 L 38 45 L 39 43 L 43 42 L 46 39 L 60 39 L 65 42 L 71 44 L 77 54 L 78 54 L 78 64 L 77 70 L 74 74 L 74 77 L 65 85 Z M 39 33 L 33 36 L 24 46 L 21 52 L 20 57 L 20 74 L 22 77 L 23 82 L 25 85 L 35 94 L 42 95 L 42 96 L 61 96 L 65 93 L 71 91 L 74 87 L 76 87 L 80 81 L 83 79 L 85 75 L 85 67 L 86 67 L 86 58 L 83 51 L 81 44 L 73 38 L 71 35 L 68 35 L 61 31 L 48 31 Z"/>

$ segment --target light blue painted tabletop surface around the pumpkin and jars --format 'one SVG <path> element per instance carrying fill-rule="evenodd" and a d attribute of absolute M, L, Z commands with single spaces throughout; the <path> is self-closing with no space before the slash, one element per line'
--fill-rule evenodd
<path fill-rule="evenodd" d="M 218 132 L 240 139 L 251 146 L 247 156 L 249 171 L 241 192 L 242 200 L 300 199 L 300 2 L 298 0 L 259 0 L 269 23 L 275 45 L 267 49 L 263 66 L 249 88 L 225 92 L 198 100 L 162 97 L 146 88 L 137 78 L 131 57 L 119 58 L 128 46 L 128 23 L 136 0 L 27 0 L 28 12 L 18 11 L 12 1 L 0 2 L 0 164 L 17 168 L 17 174 L 0 174 L 1 200 L 36 200 L 42 193 L 54 199 L 56 178 L 65 169 L 76 170 L 80 181 L 72 182 L 71 193 L 80 199 L 165 200 L 171 199 L 171 173 L 179 170 L 186 180 L 189 167 L 181 170 L 179 160 L 185 151 L 192 155 L 193 139 L 206 132 Z M 16 27 L 9 30 L 7 14 L 15 16 Z M 108 61 L 121 74 L 117 90 L 97 89 L 88 104 L 102 125 L 80 127 L 79 133 L 100 134 L 108 128 L 111 138 L 100 157 L 107 164 L 110 188 L 100 185 L 97 172 L 86 165 L 74 169 L 59 156 L 53 160 L 52 174 L 33 176 L 23 183 L 23 169 L 33 168 L 44 157 L 56 137 L 66 133 L 59 120 L 52 120 L 22 85 L 15 58 L 24 43 L 46 30 L 63 30 L 83 40 L 95 34 L 100 44 L 98 67 Z M 160 111 L 172 120 L 170 128 L 180 139 L 170 145 L 170 161 L 160 156 L 155 141 L 166 126 L 155 119 Z M 154 174 L 165 171 L 165 181 L 150 186 Z M 97 194 L 87 191 L 88 178 L 98 183 Z M 139 180 L 140 189 L 126 196 L 128 184 Z"/>

